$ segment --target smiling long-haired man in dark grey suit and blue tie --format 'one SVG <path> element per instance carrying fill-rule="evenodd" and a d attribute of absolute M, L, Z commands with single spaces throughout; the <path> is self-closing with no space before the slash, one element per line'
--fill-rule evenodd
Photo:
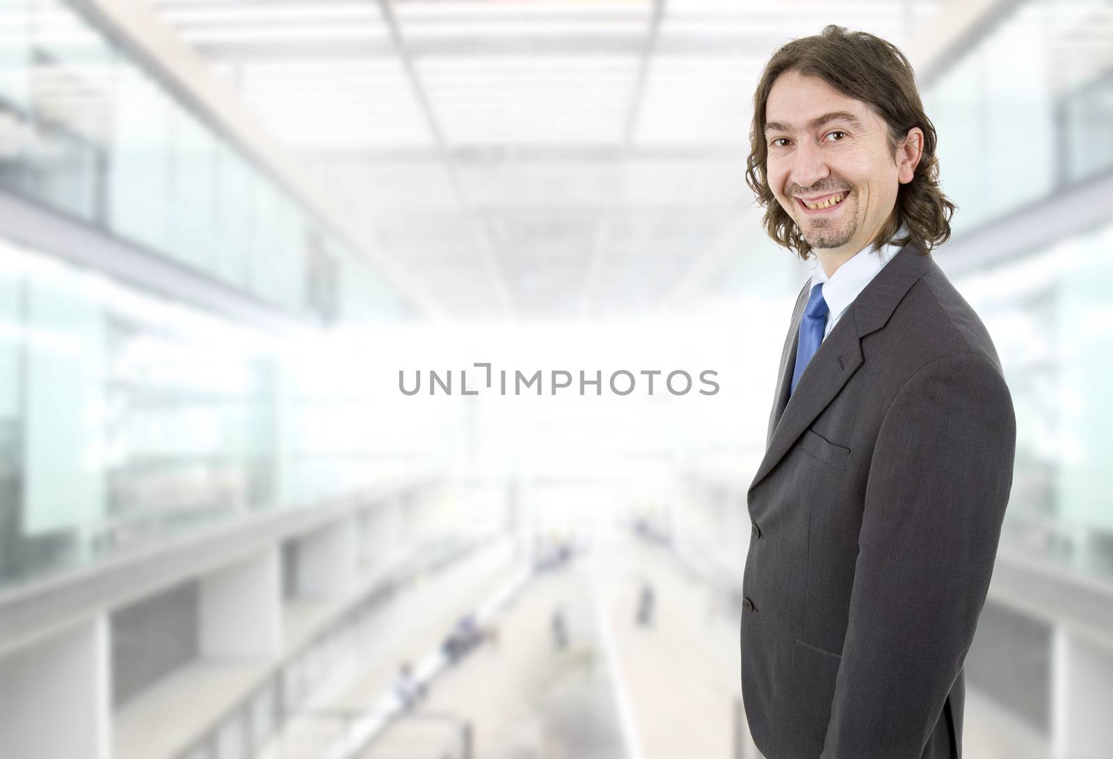
<path fill-rule="evenodd" d="M 959 136 L 961 138 L 961 136 Z M 827 27 L 755 95 L 747 180 L 817 259 L 748 493 L 741 686 L 768 759 L 957 759 L 1012 486 L 985 327 L 933 262 L 954 205 L 893 45 Z"/>

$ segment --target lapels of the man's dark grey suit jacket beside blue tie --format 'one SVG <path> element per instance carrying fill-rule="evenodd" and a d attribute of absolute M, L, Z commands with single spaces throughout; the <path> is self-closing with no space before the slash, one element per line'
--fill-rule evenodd
<path fill-rule="evenodd" d="M 772 471 L 800 434 L 835 400 L 861 366 L 861 338 L 885 326 L 900 298 L 930 266 L 934 266 L 930 255 L 920 255 L 914 245 L 900 248 L 893 260 L 855 298 L 830 335 L 819 344 L 819 349 L 808 362 L 791 397 L 788 397 L 787 377 L 791 375 L 791 367 L 795 365 L 797 337 L 790 336 L 786 341 L 791 343 L 791 348 L 781 356 L 777 401 L 769 425 L 771 434 L 750 490 Z M 792 333 L 799 332 L 801 317 L 802 306 L 798 302 L 792 314 Z M 786 398 L 784 412 L 779 413 L 779 404 Z"/>

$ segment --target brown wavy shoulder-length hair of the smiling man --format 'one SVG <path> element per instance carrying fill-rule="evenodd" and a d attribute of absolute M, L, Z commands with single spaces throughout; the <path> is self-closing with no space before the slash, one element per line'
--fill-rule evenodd
<path fill-rule="evenodd" d="M 769 155 L 765 139 L 766 102 L 777 77 L 787 71 L 819 77 L 843 95 L 866 103 L 889 127 L 890 154 L 896 152 L 909 129 L 919 127 L 924 131 L 924 150 L 913 179 L 899 185 L 896 206 L 874 238 L 873 247 L 876 250 L 893 240 L 902 224 L 908 235 L 893 240 L 897 245 L 912 241 L 927 253 L 945 243 L 951 237 L 951 217 L 957 206 L 939 189 L 935 127 L 924 112 L 912 65 L 892 42 L 864 31 L 848 32 L 835 24 L 825 27 L 820 34 L 792 40 L 775 52 L 754 93 L 746 184 L 766 209 L 764 221 L 769 236 L 800 258 L 811 256 L 811 246 L 777 201 L 766 172 Z"/>

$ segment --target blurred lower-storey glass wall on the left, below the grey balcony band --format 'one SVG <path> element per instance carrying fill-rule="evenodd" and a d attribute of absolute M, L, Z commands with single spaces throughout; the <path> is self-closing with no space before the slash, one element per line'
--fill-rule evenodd
<path fill-rule="evenodd" d="M 374 366 L 0 238 L 0 586 L 431 465 Z"/>

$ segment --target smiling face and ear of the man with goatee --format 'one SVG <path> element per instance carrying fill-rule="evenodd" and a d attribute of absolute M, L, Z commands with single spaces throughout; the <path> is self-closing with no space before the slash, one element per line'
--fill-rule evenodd
<path fill-rule="evenodd" d="M 909 130 L 909 138 L 923 132 Z M 866 247 L 910 181 L 919 149 L 889 150 L 885 120 L 823 79 L 787 71 L 766 103 L 767 177 L 780 206 L 814 248 Z"/>

